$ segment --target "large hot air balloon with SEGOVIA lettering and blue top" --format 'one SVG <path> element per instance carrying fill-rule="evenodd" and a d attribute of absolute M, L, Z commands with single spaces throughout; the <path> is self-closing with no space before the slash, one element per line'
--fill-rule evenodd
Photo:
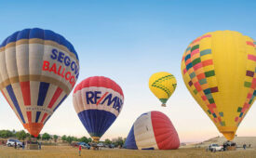
<path fill-rule="evenodd" d="M 69 95 L 78 74 L 74 47 L 58 33 L 25 29 L 0 46 L 1 91 L 34 137 Z"/>

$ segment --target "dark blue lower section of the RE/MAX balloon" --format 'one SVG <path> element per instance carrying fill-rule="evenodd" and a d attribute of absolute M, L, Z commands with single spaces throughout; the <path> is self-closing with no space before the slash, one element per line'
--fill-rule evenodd
<path fill-rule="evenodd" d="M 100 137 L 114 123 L 116 116 L 112 112 L 101 110 L 86 110 L 78 113 L 82 124 L 91 137 Z"/>

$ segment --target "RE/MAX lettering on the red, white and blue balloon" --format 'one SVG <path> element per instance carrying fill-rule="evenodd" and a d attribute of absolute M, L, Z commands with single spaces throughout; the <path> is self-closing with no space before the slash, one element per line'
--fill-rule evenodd
<path fill-rule="evenodd" d="M 113 106 L 113 108 L 120 112 L 120 109 L 123 105 L 123 100 L 119 99 L 117 96 L 113 98 L 113 94 L 105 92 L 101 95 L 101 91 L 87 91 L 86 92 L 87 104 L 104 104 L 107 106 Z"/>

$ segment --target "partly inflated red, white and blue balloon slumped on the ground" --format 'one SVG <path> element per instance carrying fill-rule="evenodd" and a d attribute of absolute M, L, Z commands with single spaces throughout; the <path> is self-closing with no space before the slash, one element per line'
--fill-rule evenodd
<path fill-rule="evenodd" d="M 179 136 L 168 116 L 162 112 L 146 112 L 132 125 L 125 148 L 131 150 L 175 150 Z"/>

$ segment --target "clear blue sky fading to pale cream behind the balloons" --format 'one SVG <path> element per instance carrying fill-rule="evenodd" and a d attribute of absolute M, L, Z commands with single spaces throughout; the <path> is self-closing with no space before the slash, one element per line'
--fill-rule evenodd
<path fill-rule="evenodd" d="M 44 2 L 44 3 L 42 3 Z M 1 2 L 0 41 L 24 28 L 39 27 L 61 33 L 80 59 L 78 82 L 104 75 L 124 91 L 125 105 L 104 138 L 127 137 L 142 112 L 165 112 L 182 141 L 221 134 L 190 96 L 182 81 L 182 53 L 197 36 L 217 30 L 233 30 L 256 38 L 256 2 L 251 1 L 17 1 Z M 178 87 L 160 103 L 150 92 L 148 78 L 154 72 L 173 73 Z M 0 128 L 22 129 L 1 95 Z M 250 112 L 239 126 L 238 136 L 255 136 Z M 72 96 L 66 99 L 45 125 L 43 132 L 88 136 L 74 112 Z"/>

